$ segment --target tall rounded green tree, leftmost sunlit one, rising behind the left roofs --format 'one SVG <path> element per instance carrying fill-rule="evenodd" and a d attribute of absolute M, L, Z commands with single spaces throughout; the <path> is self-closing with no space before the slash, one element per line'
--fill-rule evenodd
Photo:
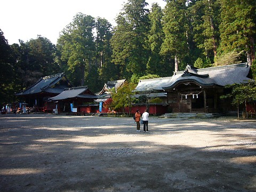
<path fill-rule="evenodd" d="M 58 39 L 62 64 L 67 63 L 68 77 L 75 86 L 85 85 L 85 78 L 92 68 L 95 55 L 94 25 L 93 17 L 78 13 Z"/>

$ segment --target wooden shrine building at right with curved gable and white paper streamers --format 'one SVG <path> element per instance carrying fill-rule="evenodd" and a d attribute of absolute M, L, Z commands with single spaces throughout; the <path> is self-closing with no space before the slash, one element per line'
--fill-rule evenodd
<path fill-rule="evenodd" d="M 253 81 L 247 63 L 198 69 L 187 66 L 172 77 L 141 80 L 135 90 L 166 92 L 171 113 L 226 113 L 236 110 L 229 100 L 226 85 Z"/>

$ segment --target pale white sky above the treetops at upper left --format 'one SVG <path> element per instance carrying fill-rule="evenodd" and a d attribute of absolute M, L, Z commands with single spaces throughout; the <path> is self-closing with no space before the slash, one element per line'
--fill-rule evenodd
<path fill-rule="evenodd" d="M 115 26 L 115 18 L 128 0 L 1 0 L 0 29 L 9 45 L 27 42 L 41 35 L 53 44 L 73 17 L 81 12 L 94 18 L 107 19 Z M 146 0 L 150 5 L 163 0 Z"/>

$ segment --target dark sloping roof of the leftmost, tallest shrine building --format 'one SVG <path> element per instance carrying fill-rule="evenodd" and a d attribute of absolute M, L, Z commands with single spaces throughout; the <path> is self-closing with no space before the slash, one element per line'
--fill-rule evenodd
<path fill-rule="evenodd" d="M 65 84 L 58 84 L 61 79 L 66 81 Z M 65 74 L 55 74 L 50 76 L 41 77 L 38 82 L 34 85 L 30 86 L 28 89 L 17 93 L 16 95 L 28 95 L 28 94 L 36 94 L 41 92 L 47 93 L 61 93 L 68 86 L 71 87 L 69 82 L 66 80 Z"/>

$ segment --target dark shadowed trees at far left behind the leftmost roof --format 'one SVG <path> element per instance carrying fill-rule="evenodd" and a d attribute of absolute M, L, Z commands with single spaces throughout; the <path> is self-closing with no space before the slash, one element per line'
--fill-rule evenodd
<path fill-rule="evenodd" d="M 57 51 L 49 39 L 39 36 L 29 42 L 8 45 L 0 34 L 1 99 L 2 102 L 14 102 L 15 92 L 34 84 L 42 76 L 58 71 L 55 62 Z M 2 58 L 4 57 L 4 59 Z"/>

